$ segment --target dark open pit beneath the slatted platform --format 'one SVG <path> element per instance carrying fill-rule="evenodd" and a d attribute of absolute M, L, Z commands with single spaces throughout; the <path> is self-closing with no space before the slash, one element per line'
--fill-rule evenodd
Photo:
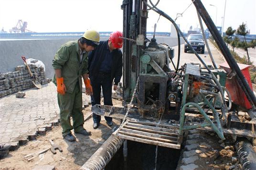
<path fill-rule="evenodd" d="M 135 141 L 127 141 L 128 157 L 125 165 L 123 145 L 105 167 L 105 170 L 175 170 L 180 158 L 179 149 L 158 146 L 155 166 L 156 146 Z M 127 168 L 125 168 L 127 167 Z"/>

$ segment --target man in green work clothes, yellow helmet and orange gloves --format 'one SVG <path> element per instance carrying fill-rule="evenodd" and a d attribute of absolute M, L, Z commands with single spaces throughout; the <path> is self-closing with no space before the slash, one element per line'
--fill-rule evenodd
<path fill-rule="evenodd" d="M 88 53 L 99 44 L 99 33 L 91 30 L 77 41 L 67 42 L 60 47 L 53 59 L 53 83 L 57 85 L 60 123 L 64 139 L 75 141 L 75 133 L 90 135 L 84 125 L 82 112 L 82 76 L 85 82 L 86 95 L 92 95 L 93 89 L 88 79 Z M 73 119 L 73 126 L 70 123 Z"/>

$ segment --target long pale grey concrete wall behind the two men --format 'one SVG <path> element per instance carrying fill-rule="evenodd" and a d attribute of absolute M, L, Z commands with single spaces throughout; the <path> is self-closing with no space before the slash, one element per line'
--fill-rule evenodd
<path fill-rule="evenodd" d="M 148 37 L 149 40 L 151 37 Z M 176 38 L 156 37 L 157 42 L 164 42 L 170 46 L 178 44 Z M 0 41 L 0 73 L 12 72 L 18 65 L 22 65 L 21 55 L 43 62 L 47 78 L 53 77 L 53 56 L 59 47 L 65 42 L 76 39 L 41 39 L 41 40 L 12 40 Z M 101 38 L 107 40 L 107 37 Z M 181 40 L 184 43 L 184 40 Z"/>

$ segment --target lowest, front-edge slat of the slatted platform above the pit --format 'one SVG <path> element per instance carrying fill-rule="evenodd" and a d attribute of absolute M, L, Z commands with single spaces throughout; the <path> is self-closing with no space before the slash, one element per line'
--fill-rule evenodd
<path fill-rule="evenodd" d="M 128 139 L 128 140 L 136 141 L 136 142 L 147 143 L 147 144 L 151 144 L 151 145 L 158 145 L 161 147 L 167 147 L 167 148 L 173 148 L 173 149 L 181 149 L 181 145 L 176 145 L 176 144 L 172 144 L 172 143 L 153 141 L 153 140 L 149 140 L 149 139 L 141 139 L 141 138 L 130 137 L 127 135 L 122 135 L 122 134 L 117 134 L 117 136 L 119 138 L 124 138 L 124 139 Z"/>

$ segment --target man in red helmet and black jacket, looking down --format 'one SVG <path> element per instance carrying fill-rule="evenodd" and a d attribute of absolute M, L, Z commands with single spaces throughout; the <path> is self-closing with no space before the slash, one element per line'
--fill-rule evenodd
<path fill-rule="evenodd" d="M 123 46 L 122 32 L 116 31 L 110 34 L 107 41 L 101 41 L 96 50 L 88 55 L 89 78 L 93 87 L 91 96 L 92 106 L 100 104 L 101 87 L 104 97 L 104 105 L 112 104 L 113 90 L 117 90 L 117 84 L 122 77 L 123 59 L 120 48 Z M 99 126 L 101 117 L 93 114 L 93 128 Z M 105 117 L 108 126 L 112 126 L 112 117 Z"/>

